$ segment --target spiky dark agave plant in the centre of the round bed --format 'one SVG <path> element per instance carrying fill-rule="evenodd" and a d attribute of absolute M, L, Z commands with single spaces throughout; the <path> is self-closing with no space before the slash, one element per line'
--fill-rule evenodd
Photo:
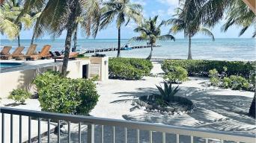
<path fill-rule="evenodd" d="M 160 92 L 159 96 L 161 97 L 162 101 L 166 102 L 166 104 L 172 101 L 174 95 L 180 90 L 178 89 L 179 86 L 173 87 L 168 81 L 164 81 L 164 87 L 162 87 L 161 85 L 156 87 Z"/>

